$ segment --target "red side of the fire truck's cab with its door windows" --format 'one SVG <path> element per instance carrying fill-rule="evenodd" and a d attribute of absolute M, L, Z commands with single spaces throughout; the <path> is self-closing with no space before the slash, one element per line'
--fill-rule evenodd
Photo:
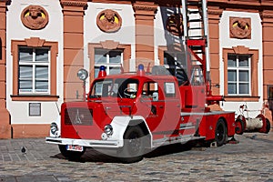
<path fill-rule="evenodd" d="M 147 82 L 143 86 L 142 104 L 149 111 L 147 125 L 154 139 L 173 135 L 178 126 L 180 102 L 175 82 Z"/>

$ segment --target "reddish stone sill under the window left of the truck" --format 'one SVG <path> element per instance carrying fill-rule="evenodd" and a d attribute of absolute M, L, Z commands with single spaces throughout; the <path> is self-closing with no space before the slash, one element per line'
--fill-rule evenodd
<path fill-rule="evenodd" d="M 56 102 L 59 98 L 59 96 L 31 96 L 31 95 L 12 95 L 11 96 L 13 101 L 54 101 Z"/>

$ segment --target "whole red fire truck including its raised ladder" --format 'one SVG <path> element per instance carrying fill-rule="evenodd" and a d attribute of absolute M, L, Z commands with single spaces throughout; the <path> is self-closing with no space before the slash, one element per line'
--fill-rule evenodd
<path fill-rule="evenodd" d="M 192 3 L 182 3 L 187 67 L 153 66 L 150 73 L 148 66 L 145 71 L 139 65 L 136 73 L 106 76 L 101 66 L 87 99 L 61 106 L 60 121 L 51 124 L 46 143 L 58 145 L 68 158 L 95 148 L 125 162 L 140 160 L 160 146 L 197 139 L 226 144 L 235 135 L 235 112 L 208 107 L 223 97 L 212 96 L 209 86 L 206 0 L 196 3 L 201 12 L 199 36 L 189 34 L 187 22 L 188 14 L 197 11 L 187 10 Z"/>

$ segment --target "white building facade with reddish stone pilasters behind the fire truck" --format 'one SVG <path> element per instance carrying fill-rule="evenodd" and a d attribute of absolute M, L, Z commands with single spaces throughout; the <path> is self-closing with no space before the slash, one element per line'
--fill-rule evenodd
<path fill-rule="evenodd" d="M 272 123 L 273 2 L 207 0 L 207 13 L 212 91 L 226 99 L 217 109 L 247 104 Z M 179 0 L 0 0 L 0 138 L 47 136 L 101 65 L 183 66 L 182 26 Z"/>

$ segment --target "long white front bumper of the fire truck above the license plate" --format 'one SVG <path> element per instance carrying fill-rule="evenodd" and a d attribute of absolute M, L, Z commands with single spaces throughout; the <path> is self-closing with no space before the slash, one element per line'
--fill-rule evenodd
<path fill-rule="evenodd" d="M 117 148 L 122 147 L 123 143 L 117 140 L 91 140 L 91 139 L 73 139 L 62 137 L 45 137 L 45 143 L 56 145 L 72 145 L 82 147 L 99 148 Z"/>

